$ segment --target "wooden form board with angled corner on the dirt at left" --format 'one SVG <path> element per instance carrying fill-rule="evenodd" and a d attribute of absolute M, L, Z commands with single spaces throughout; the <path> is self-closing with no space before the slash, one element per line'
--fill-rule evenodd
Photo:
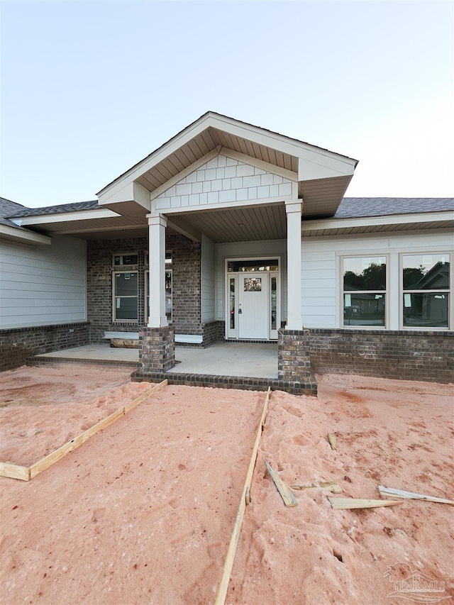
<path fill-rule="evenodd" d="M 84 433 L 81 433 L 74 439 L 65 443 L 65 445 L 62 445 L 60 448 L 57 448 L 47 456 L 43 457 L 41 460 L 38 460 L 38 462 L 35 462 L 35 464 L 31 465 L 31 467 L 21 467 L 18 465 L 13 465 L 9 462 L 0 462 L 0 476 L 10 477 L 11 479 L 21 479 L 22 481 L 30 481 L 33 479 L 33 477 L 36 477 L 37 474 L 40 474 L 40 472 L 43 472 L 43 470 L 55 464 L 57 460 L 61 460 L 62 457 L 72 452 L 72 450 L 79 448 L 93 435 L 96 435 L 96 433 L 99 433 L 99 431 L 101 431 L 103 428 L 106 428 L 106 426 L 109 426 L 109 424 L 115 422 L 118 418 L 120 418 L 120 416 L 124 416 L 124 414 L 126 414 L 128 411 L 134 409 L 142 401 L 148 399 L 150 395 L 156 393 L 165 386 L 167 386 L 167 380 L 163 380 L 159 384 L 156 384 L 152 389 L 148 389 L 147 392 L 136 397 L 129 404 L 126 404 L 126 406 L 122 406 L 120 409 L 114 411 L 114 413 L 111 413 L 106 418 L 103 418 L 103 420 L 99 421 L 91 428 L 88 428 L 87 431 L 84 431 Z"/>

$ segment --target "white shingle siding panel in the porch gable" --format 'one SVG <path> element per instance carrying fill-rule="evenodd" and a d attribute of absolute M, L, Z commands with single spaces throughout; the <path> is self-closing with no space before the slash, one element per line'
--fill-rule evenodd
<path fill-rule="evenodd" d="M 218 155 L 156 198 L 156 210 L 292 195 L 292 181 Z"/>

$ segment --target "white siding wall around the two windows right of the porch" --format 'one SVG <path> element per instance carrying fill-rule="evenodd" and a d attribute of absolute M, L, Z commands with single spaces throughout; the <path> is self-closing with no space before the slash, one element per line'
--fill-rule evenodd
<path fill-rule="evenodd" d="M 303 238 L 301 243 L 301 315 L 305 328 L 342 328 L 341 260 L 344 255 L 387 255 L 389 330 L 399 330 L 399 255 L 451 252 L 453 233 L 412 232 L 411 235 L 338 235 Z M 452 288 L 452 286 L 451 286 Z M 452 296 L 452 295 L 451 295 Z M 452 303 L 451 303 L 452 304 Z"/>

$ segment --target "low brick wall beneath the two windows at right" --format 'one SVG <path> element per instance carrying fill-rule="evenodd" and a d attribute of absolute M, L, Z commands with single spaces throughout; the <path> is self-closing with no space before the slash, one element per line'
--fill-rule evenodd
<path fill-rule="evenodd" d="M 454 332 L 309 331 L 314 372 L 454 382 Z"/>

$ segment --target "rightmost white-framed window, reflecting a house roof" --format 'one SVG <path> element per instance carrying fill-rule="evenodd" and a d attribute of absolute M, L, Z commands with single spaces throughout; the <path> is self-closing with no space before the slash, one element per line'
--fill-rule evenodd
<path fill-rule="evenodd" d="M 449 328 L 450 255 L 402 255 L 402 325 Z"/>

